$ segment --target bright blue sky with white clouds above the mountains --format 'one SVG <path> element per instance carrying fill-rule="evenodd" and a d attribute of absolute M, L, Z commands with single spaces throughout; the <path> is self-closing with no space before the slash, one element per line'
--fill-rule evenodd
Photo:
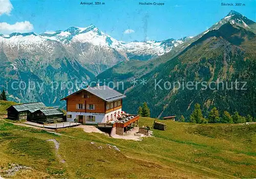
<path fill-rule="evenodd" d="M 100 2 L 101 5 L 80 5 Z M 52 32 L 93 23 L 117 40 L 164 40 L 196 36 L 235 10 L 256 21 L 256 1 L 0 0 L 0 33 Z M 221 6 L 241 3 L 242 6 Z M 104 5 L 102 5 L 104 3 Z"/>

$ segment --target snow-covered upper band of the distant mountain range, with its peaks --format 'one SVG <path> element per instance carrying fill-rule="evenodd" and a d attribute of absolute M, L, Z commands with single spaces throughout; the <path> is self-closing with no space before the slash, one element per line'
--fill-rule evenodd
<path fill-rule="evenodd" d="M 67 52 L 71 53 L 74 58 L 88 58 L 95 53 L 95 49 L 109 53 L 118 53 L 124 59 L 148 60 L 168 53 L 173 47 L 189 40 L 189 37 L 184 37 L 179 40 L 173 38 L 163 41 L 133 41 L 123 42 L 119 41 L 100 31 L 94 24 L 85 28 L 70 27 L 65 31 L 57 30 L 41 33 L 39 35 L 31 33 L 12 33 L 10 35 L 0 35 L 0 42 L 4 41 L 7 45 L 15 48 L 21 47 L 26 53 L 36 53 L 39 48 L 42 52 L 45 50 L 49 52 L 54 51 L 55 46 L 65 48 Z M 94 60 L 94 59 L 89 59 Z M 101 70 L 99 70 L 101 71 Z"/>

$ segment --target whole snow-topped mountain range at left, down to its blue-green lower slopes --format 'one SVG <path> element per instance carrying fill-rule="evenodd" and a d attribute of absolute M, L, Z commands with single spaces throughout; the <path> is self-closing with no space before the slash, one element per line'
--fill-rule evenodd
<path fill-rule="evenodd" d="M 82 88 L 96 74 L 122 61 L 160 56 L 188 39 L 125 43 L 93 24 L 39 35 L 0 34 L 0 87 L 8 88 L 12 100 L 64 106 L 58 99 Z"/>

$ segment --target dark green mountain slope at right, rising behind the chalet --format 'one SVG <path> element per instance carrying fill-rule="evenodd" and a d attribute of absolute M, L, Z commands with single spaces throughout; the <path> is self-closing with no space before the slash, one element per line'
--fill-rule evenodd
<path fill-rule="evenodd" d="M 233 13 L 233 11 L 230 13 Z M 223 20 L 221 21 L 223 23 Z M 222 23 L 218 22 L 217 24 Z M 114 73 L 114 79 L 125 81 L 124 90 L 121 90 L 127 96 L 124 101 L 124 110 L 135 113 L 143 101 L 146 101 L 151 109 L 152 117 L 184 115 L 188 119 L 194 105 L 199 103 L 203 107 L 204 115 L 207 115 L 208 111 L 216 106 L 221 112 L 224 110 L 231 113 L 239 111 L 242 115 L 255 116 L 255 40 L 255 34 L 250 28 L 243 27 L 241 24 L 230 23 L 227 20 L 220 27 L 211 27 L 190 41 L 177 46 L 182 47 L 182 49 L 177 50 L 176 54 L 174 48 L 170 53 L 161 56 L 164 59 L 161 61 L 162 63 L 147 72 L 145 72 L 145 69 L 150 61 L 132 68 L 125 67 L 127 69 L 125 72 L 126 79 L 118 79 L 119 74 Z M 159 58 L 151 61 L 157 61 Z M 124 62 L 121 64 L 124 64 Z M 106 70 L 102 74 L 107 71 L 118 72 L 120 67 L 124 68 L 123 66 L 130 65 L 129 63 L 121 64 Z M 135 70 L 131 73 L 133 69 Z M 138 73 L 140 70 L 144 71 Z M 134 78 L 132 74 L 138 80 L 138 84 L 135 86 L 130 83 L 133 82 L 131 80 Z M 99 74 L 97 78 L 102 79 L 103 75 Z M 144 85 L 140 84 L 140 80 L 143 79 L 146 80 Z M 229 90 L 226 88 L 226 82 L 228 88 L 230 88 L 231 82 L 234 83 L 236 80 L 247 82 L 247 90 Z M 155 89 L 159 81 L 163 90 L 158 86 Z M 195 87 L 193 90 L 173 90 L 173 82 L 177 82 L 177 87 L 178 82 L 182 85 L 182 82 L 184 84 L 187 82 L 195 84 L 203 81 L 206 85 L 211 82 L 221 82 L 219 90 L 209 88 L 203 90 L 201 89 L 202 84 L 198 85 L 197 90 Z M 172 85 L 170 89 L 164 89 L 165 82 L 167 88 L 169 84 Z M 240 83 L 241 87 L 242 83 Z"/>

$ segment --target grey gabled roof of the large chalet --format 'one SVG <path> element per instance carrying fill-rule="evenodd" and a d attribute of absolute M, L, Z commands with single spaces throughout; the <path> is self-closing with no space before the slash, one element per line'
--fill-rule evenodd
<path fill-rule="evenodd" d="M 118 100 L 118 99 L 122 99 L 124 97 L 126 97 L 124 94 L 119 93 L 118 91 L 108 87 L 108 86 L 96 86 L 96 87 L 88 87 L 85 89 L 81 89 L 79 91 L 76 91 L 60 100 L 66 100 L 68 97 L 77 94 L 81 91 L 87 91 L 89 93 L 94 94 L 95 96 L 98 96 L 99 98 L 103 99 L 106 102 L 110 102 L 113 100 Z"/>

